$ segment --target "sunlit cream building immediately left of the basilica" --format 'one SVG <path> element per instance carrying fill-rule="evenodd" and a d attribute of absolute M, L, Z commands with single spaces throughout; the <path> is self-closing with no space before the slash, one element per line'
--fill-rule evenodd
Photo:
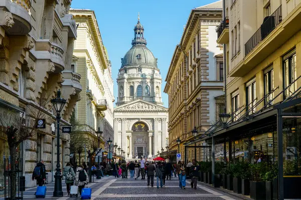
<path fill-rule="evenodd" d="M 102 43 L 93 10 L 70 9 L 78 24 L 78 38 L 73 55 L 77 57 L 74 71 L 80 73 L 82 99 L 76 106 L 76 117 L 84 124 L 83 132 L 97 140 L 95 131 L 103 131 L 100 147 L 108 151 L 106 141 L 113 138 L 113 79 L 111 62 Z M 91 144 L 87 144 L 91 145 Z"/>

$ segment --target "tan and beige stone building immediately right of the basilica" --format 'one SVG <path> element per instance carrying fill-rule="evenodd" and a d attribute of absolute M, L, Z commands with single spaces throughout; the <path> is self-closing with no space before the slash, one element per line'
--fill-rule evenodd
<path fill-rule="evenodd" d="M 224 107 L 223 48 L 216 42 L 216 26 L 222 19 L 222 1 L 191 10 L 180 43 L 169 66 L 164 92 L 169 95 L 169 146 L 184 159 L 184 143 L 193 140 L 194 127 L 204 133 Z M 197 148 L 197 160 L 203 159 Z M 186 152 L 194 159 L 194 148 Z M 209 156 L 209 154 L 208 154 Z"/>

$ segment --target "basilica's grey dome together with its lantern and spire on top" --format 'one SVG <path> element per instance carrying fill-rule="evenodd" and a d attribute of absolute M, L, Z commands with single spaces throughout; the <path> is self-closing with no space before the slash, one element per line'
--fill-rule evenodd
<path fill-rule="evenodd" d="M 144 27 L 141 25 L 139 17 L 134 27 L 134 39 L 132 39 L 132 47 L 125 53 L 121 61 L 121 68 L 127 66 L 148 66 L 157 67 L 157 59 L 152 51 L 146 47 L 144 38 Z"/>

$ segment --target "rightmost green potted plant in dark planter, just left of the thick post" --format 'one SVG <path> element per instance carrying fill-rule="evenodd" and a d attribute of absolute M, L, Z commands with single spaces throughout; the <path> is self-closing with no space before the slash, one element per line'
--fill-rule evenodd
<path fill-rule="evenodd" d="M 262 180 L 265 181 L 265 199 L 269 199 L 269 200 L 273 199 L 273 181 L 275 178 L 277 178 L 277 175 L 278 175 L 277 163 L 269 164 L 268 171 L 262 177 Z M 277 189 L 277 193 L 278 193 L 278 189 Z"/>

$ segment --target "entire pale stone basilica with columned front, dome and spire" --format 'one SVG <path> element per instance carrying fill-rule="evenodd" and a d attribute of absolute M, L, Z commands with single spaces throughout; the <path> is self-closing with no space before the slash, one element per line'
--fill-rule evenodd
<path fill-rule="evenodd" d="M 114 108 L 114 144 L 127 159 L 153 157 L 168 145 L 168 108 L 163 106 L 157 59 L 146 47 L 139 18 L 132 47 L 121 58 Z M 118 152 L 117 152 L 118 153 Z"/>

